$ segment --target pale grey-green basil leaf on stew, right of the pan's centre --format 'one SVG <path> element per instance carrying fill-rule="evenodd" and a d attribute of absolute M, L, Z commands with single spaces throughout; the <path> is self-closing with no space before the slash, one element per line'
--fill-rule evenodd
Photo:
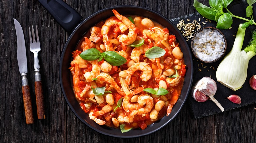
<path fill-rule="evenodd" d="M 152 47 L 145 52 L 145 56 L 149 59 L 159 58 L 163 56 L 166 51 L 160 47 Z"/>

